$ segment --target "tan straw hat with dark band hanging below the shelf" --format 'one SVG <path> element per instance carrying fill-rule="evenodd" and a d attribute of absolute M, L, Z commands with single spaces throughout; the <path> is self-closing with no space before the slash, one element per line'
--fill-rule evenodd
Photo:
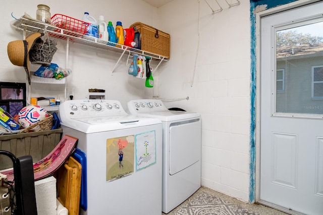
<path fill-rule="evenodd" d="M 8 43 L 7 51 L 8 57 L 12 64 L 24 66 L 28 84 L 30 85 L 30 72 L 29 72 L 29 51 L 34 45 L 37 38 L 43 36 L 42 33 L 33 33 L 25 40 L 15 40 Z"/>

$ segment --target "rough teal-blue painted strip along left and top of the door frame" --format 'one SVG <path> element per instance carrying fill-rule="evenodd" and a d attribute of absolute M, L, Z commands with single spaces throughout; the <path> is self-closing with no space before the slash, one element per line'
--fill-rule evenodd
<path fill-rule="evenodd" d="M 250 180 L 249 180 L 249 202 L 255 201 L 255 153 L 256 153 L 256 15 L 254 9 L 259 5 L 267 5 L 267 9 L 285 5 L 297 0 L 250 0 Z"/>

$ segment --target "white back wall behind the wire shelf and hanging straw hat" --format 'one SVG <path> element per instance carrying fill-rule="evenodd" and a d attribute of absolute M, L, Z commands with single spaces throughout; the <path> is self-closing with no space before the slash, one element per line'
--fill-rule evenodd
<path fill-rule="evenodd" d="M 26 73 L 23 67 L 13 65 L 7 54 L 7 45 L 10 41 L 23 39 L 22 31 L 17 31 L 10 26 L 16 18 L 24 13 L 33 18 L 36 17 L 38 4 L 50 7 L 51 15 L 64 14 L 76 19 L 82 19 L 84 12 L 89 12 L 93 17 L 103 15 L 106 21 L 112 21 L 115 27 L 117 21 L 122 21 L 123 26 L 128 28 L 134 22 L 154 25 L 156 8 L 141 0 L 103 1 L 103 0 L 37 0 L 5 1 L 2 4 L 0 19 L 3 23 L 2 35 L 0 37 L 0 76 L 5 82 L 25 82 Z M 61 67 L 66 67 L 66 42 L 58 41 L 58 51 L 52 62 Z M 124 56 L 111 75 L 111 69 L 115 66 L 120 54 L 113 51 L 101 50 L 86 45 L 70 43 L 68 68 L 72 69 L 72 75 L 67 79 L 68 91 L 73 90 L 75 99 L 83 99 L 88 89 L 104 89 L 108 99 L 120 100 L 122 105 L 135 98 L 151 98 L 153 89 L 145 87 L 145 80 L 139 80 L 128 75 L 126 66 L 127 56 Z M 39 66 L 32 66 L 36 70 Z M 33 96 L 53 96 L 61 94 L 64 98 L 64 86 L 53 86 L 44 84 L 32 84 Z"/>

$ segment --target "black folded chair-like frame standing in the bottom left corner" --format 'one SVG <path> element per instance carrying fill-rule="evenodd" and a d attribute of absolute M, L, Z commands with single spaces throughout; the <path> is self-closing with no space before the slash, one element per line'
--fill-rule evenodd
<path fill-rule="evenodd" d="M 16 158 L 10 152 L 0 150 L 0 155 L 8 156 L 14 167 L 16 208 L 15 215 L 37 215 L 34 169 L 30 155 Z"/>

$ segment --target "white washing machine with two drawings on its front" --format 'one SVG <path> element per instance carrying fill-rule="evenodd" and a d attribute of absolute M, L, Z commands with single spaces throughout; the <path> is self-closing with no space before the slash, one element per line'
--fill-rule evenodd
<path fill-rule="evenodd" d="M 80 214 L 161 214 L 162 124 L 115 100 L 60 105 L 63 133 L 86 154 L 87 209 Z"/>

